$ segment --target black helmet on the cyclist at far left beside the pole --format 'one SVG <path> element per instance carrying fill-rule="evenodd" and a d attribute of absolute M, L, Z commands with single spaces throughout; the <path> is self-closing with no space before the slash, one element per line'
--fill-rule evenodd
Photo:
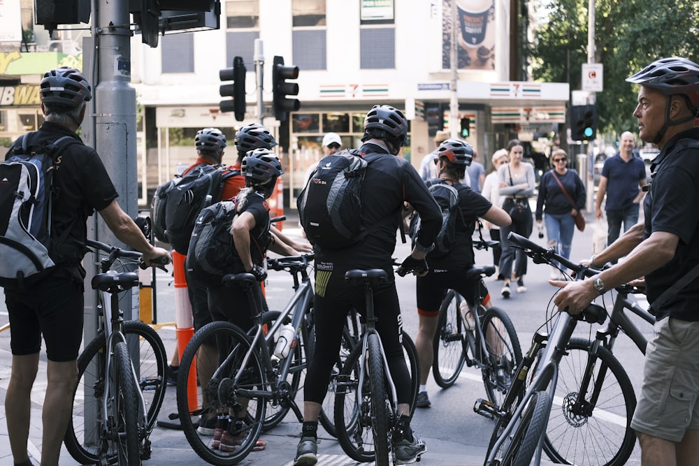
<path fill-rule="evenodd" d="M 92 88 L 85 75 L 68 66 L 44 73 L 39 93 L 41 103 L 49 107 L 78 108 L 92 99 Z"/>

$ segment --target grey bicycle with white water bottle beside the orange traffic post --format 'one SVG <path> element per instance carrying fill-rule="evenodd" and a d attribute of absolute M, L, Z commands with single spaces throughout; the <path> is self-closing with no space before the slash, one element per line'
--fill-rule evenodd
<path fill-rule="evenodd" d="M 189 444 L 208 463 L 240 462 L 256 447 L 261 432 L 280 423 L 289 409 L 302 421 L 294 398 L 301 372 L 312 354 L 307 312 L 313 297 L 307 272 L 312 259 L 312 254 L 308 254 L 268 260 L 271 268 L 286 268 L 294 275 L 296 291 L 282 312 L 257 309 L 252 293 L 259 282 L 254 275 L 224 275 L 224 284 L 236 283 L 247 291 L 250 308 L 255 310 L 252 329 L 245 332 L 233 323 L 214 321 L 199 329 L 187 344 L 177 385 L 178 412 Z M 286 357 L 273 357 L 275 337 L 286 323 L 293 326 L 296 338 Z M 202 349 L 207 346 L 213 351 Z M 207 367 L 210 373 L 203 374 Z M 201 434 L 192 421 L 192 416 L 205 418 L 212 413 L 222 426 L 219 435 L 226 430 L 227 435 L 235 437 L 235 448 L 222 446 L 217 435 Z M 244 418 L 238 414 L 244 414 Z"/>

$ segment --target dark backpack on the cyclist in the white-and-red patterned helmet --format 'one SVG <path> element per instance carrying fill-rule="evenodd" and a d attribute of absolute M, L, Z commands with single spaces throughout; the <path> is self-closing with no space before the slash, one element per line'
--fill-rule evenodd
<path fill-rule="evenodd" d="M 437 201 L 437 204 L 442 210 L 442 228 L 435 238 L 435 247 L 430 253 L 431 257 L 445 256 L 451 252 L 456 238 L 456 219 L 461 212 L 459 211 L 459 191 L 451 184 L 447 184 L 440 180 L 426 181 L 427 189 Z M 410 238 L 412 245 L 415 247 L 417 241 L 417 233 L 420 231 L 420 215 L 415 212 L 410 219 Z"/>

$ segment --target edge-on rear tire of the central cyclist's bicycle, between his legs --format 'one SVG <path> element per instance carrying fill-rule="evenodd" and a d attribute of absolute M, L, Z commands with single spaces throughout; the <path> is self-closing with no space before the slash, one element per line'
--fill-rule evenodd
<path fill-rule="evenodd" d="M 387 377 L 382 357 L 381 343 L 375 333 L 368 335 L 368 375 L 371 385 L 371 409 L 376 466 L 388 466 L 391 444 L 391 419 L 393 402 L 386 391 Z"/>

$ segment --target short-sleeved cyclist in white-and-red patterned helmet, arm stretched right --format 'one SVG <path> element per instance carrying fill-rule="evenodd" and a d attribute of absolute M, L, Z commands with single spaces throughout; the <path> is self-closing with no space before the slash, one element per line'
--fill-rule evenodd
<path fill-rule="evenodd" d="M 486 296 L 482 305 L 491 306 L 490 295 L 482 281 L 467 282 L 463 279 L 466 271 L 473 267 L 475 256 L 471 237 L 479 217 L 497 226 L 507 226 L 512 222 L 510 215 L 497 205 L 493 205 L 468 186 L 459 182 L 463 178 L 466 167 L 473 160 L 473 147 L 458 139 L 443 141 L 437 150 L 438 179 L 425 183 L 445 183 L 453 186 L 459 193 L 459 211 L 454 219 L 456 236 L 454 246 L 449 254 L 430 252 L 427 263 L 430 272 L 424 277 L 417 277 L 417 314 L 419 327 L 415 337 L 415 347 L 420 361 L 420 388 L 417 395 L 417 407 L 430 406 L 426 384 L 433 361 L 433 339 L 437 331 L 439 308 L 447 289 L 458 291 L 466 298 L 466 303 L 473 307 L 473 296 L 477 286 L 482 288 L 481 295 Z"/>

